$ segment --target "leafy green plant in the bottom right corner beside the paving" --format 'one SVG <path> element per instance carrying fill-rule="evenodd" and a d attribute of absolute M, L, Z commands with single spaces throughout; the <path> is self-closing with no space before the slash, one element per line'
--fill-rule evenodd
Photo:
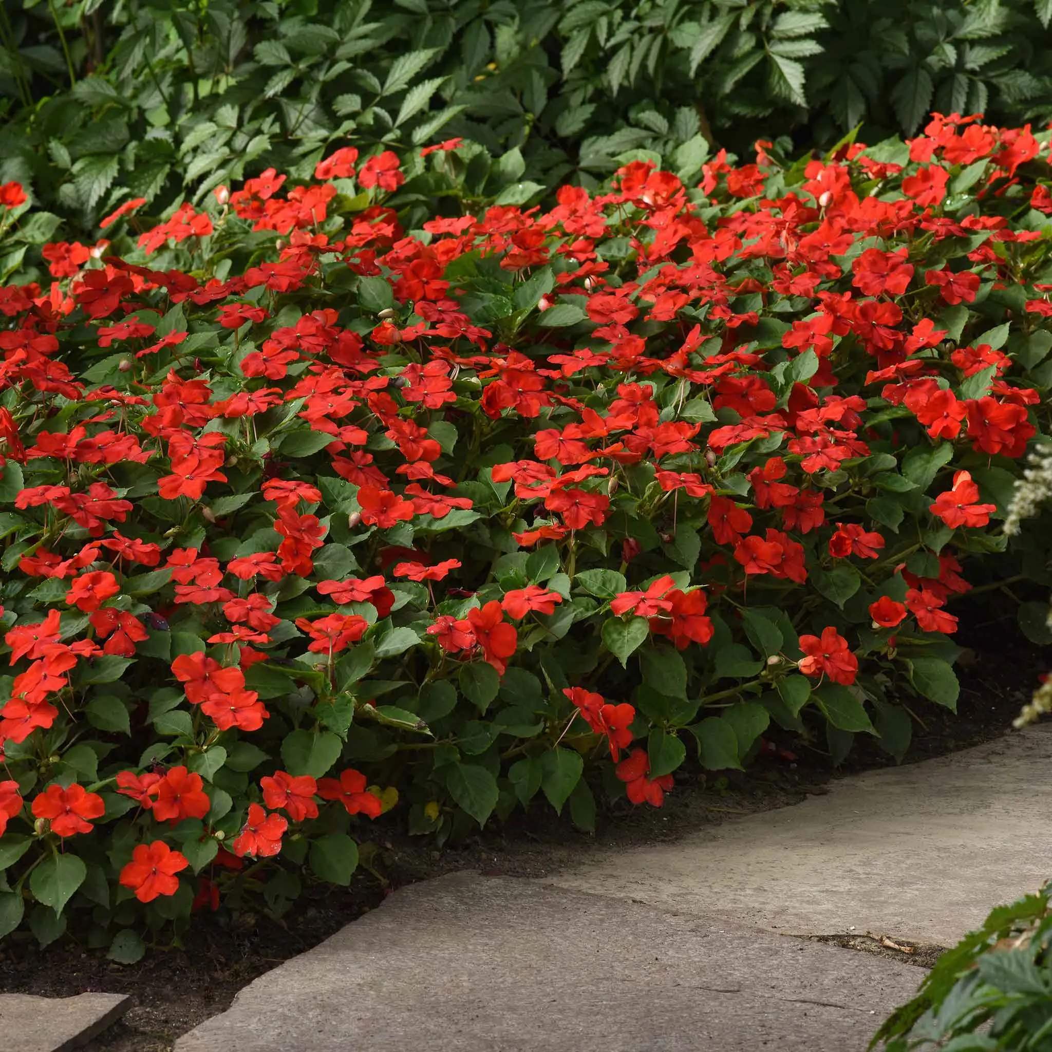
<path fill-rule="evenodd" d="M 1052 1034 L 1050 888 L 992 910 L 938 958 L 870 1048 L 1039 1052 Z M 978 1031 L 978 1032 L 976 1032 Z"/>

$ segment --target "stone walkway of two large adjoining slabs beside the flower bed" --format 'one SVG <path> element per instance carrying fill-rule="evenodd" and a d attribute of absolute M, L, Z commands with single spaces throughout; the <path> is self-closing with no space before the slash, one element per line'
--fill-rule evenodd
<path fill-rule="evenodd" d="M 256 979 L 176 1052 L 862 1052 L 948 945 L 1052 874 L 1052 727 L 544 882 L 453 874 Z"/>

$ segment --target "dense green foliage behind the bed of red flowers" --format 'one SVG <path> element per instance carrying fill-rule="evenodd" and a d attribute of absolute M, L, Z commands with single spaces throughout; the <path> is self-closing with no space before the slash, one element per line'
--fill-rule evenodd
<path fill-rule="evenodd" d="M 90 8 L 90 9 L 88 9 Z M 8 0 L 0 182 L 90 226 L 267 167 L 308 180 L 333 143 L 462 137 L 523 178 L 594 187 L 626 149 L 701 133 L 744 154 L 932 108 L 1052 114 L 1047 0 Z M 58 20 L 58 21 L 56 21 Z M 441 129 L 441 136 L 439 135 Z M 525 190 L 524 190 L 525 193 Z M 521 202 L 517 202 L 521 203 Z"/>

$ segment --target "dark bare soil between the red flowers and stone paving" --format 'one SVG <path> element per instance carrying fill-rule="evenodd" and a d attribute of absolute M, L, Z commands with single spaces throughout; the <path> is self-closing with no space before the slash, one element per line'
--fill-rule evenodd
<path fill-rule="evenodd" d="M 989 596 L 984 596 L 989 599 Z M 923 721 L 916 726 L 906 763 L 916 763 L 998 737 L 1046 671 L 1047 656 L 1021 639 L 992 603 L 963 608 L 956 642 L 967 648 L 959 663 L 962 683 L 957 713 L 932 704 L 911 703 Z M 572 829 L 542 809 L 469 843 L 436 851 L 420 838 L 387 830 L 377 837 L 373 867 L 361 872 L 345 891 L 308 890 L 282 920 L 242 913 L 227 924 L 207 918 L 195 926 L 181 949 L 154 951 L 139 964 L 121 966 L 99 951 L 78 946 L 68 936 L 40 950 L 32 936 L 13 936 L 0 951 L 0 991 L 72 996 L 82 991 L 128 993 L 135 1007 L 121 1023 L 85 1046 L 88 1052 L 167 1052 L 174 1040 L 203 1019 L 223 1011 L 235 994 L 257 975 L 333 934 L 372 909 L 393 888 L 459 869 L 493 875 L 544 876 L 594 846 L 675 839 L 727 817 L 800 803 L 808 794 L 828 792 L 845 774 L 892 766 L 894 760 L 858 735 L 847 762 L 834 769 L 817 747 L 777 733 L 773 743 L 795 760 L 760 760 L 747 773 L 727 772 L 713 778 L 697 771 L 677 777 L 676 791 L 660 810 L 619 804 L 601 814 L 596 836 Z M 942 948 L 882 943 L 881 932 L 846 932 L 820 936 L 823 942 L 881 953 L 901 962 L 930 967 Z"/>

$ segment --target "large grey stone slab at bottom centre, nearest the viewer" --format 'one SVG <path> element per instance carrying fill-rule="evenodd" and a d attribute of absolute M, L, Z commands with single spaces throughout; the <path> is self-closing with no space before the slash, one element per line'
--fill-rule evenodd
<path fill-rule="evenodd" d="M 175 1052 L 863 1052 L 923 972 L 458 873 L 256 979 Z"/>

